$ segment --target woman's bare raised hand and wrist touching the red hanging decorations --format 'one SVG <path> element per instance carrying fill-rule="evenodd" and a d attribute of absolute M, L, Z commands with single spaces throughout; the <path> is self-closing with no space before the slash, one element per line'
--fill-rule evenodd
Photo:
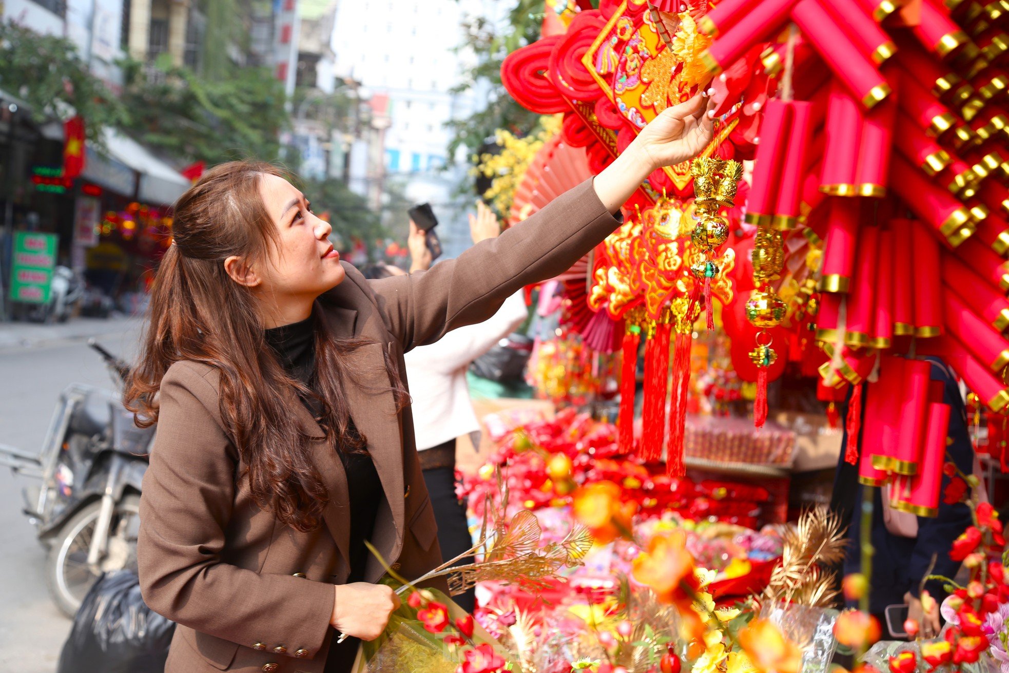
<path fill-rule="evenodd" d="M 596 176 L 595 194 L 610 213 L 624 205 L 656 169 L 693 158 L 711 141 L 714 102 L 707 94 L 666 108 Z"/>

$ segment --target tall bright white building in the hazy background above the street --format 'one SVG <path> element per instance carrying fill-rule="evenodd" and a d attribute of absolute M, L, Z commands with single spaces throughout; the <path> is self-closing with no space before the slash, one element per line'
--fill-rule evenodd
<path fill-rule="evenodd" d="M 469 14 L 500 12 L 492 0 L 342 0 L 333 29 L 335 72 L 361 83 L 364 94 L 389 97 L 391 126 L 385 132 L 386 183 L 403 183 L 416 202 L 430 202 L 439 218 L 445 256 L 469 246 L 466 213 L 473 198 L 455 195 L 465 175 L 465 156 L 451 172 L 447 163 L 450 131 L 445 123 L 467 117 L 481 105 L 480 92 L 452 94 L 473 55 L 459 53 L 462 22 Z M 351 185 L 365 178 L 354 171 Z M 475 197 L 475 195 L 473 195 Z"/>

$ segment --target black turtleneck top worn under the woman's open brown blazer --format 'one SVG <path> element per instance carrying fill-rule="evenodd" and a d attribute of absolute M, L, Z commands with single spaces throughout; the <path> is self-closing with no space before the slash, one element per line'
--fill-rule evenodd
<path fill-rule="evenodd" d="M 264 336 L 285 371 L 315 390 L 314 316 L 299 323 L 268 329 Z M 322 409 L 317 400 L 303 398 L 302 402 L 316 419 L 321 416 Z M 356 432 L 353 427 L 351 431 Z M 359 582 L 364 578 L 364 566 L 369 556 L 364 541 L 371 537 L 383 491 L 370 454 L 366 451 L 350 453 L 340 447 L 336 450 L 347 473 L 350 500 L 350 576 L 347 582 Z"/>

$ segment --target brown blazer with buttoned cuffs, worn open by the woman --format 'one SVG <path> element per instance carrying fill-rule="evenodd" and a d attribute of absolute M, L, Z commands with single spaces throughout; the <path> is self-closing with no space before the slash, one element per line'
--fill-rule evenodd
<path fill-rule="evenodd" d="M 316 310 L 337 336 L 372 342 L 354 351 L 350 366 L 387 381 L 384 348 L 406 381 L 405 351 L 489 318 L 523 286 L 566 270 L 618 224 L 586 181 L 429 271 L 367 282 L 344 264 L 346 279 Z M 333 585 L 349 572 L 342 463 L 317 441 L 330 495 L 325 525 L 301 533 L 278 524 L 238 477 L 243 465 L 222 430 L 218 386 L 217 371 L 205 364 L 181 361 L 169 369 L 143 480 L 140 587 L 154 611 L 179 624 L 165 671 L 321 673 L 333 633 Z M 347 395 L 385 494 L 371 540 L 402 574 L 418 577 L 441 562 L 441 551 L 410 409 L 397 413 L 390 391 L 351 385 Z M 309 434 L 322 437 L 304 405 L 292 399 L 291 409 Z M 371 559 L 367 580 L 381 574 Z"/>

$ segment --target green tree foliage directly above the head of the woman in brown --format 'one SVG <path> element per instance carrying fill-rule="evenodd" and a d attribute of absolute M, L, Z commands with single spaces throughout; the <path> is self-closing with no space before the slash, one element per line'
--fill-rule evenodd
<path fill-rule="evenodd" d="M 219 163 L 279 155 L 290 124 L 283 85 L 266 69 L 236 69 L 211 81 L 160 59 L 123 64 L 124 126 L 138 140 L 176 156 Z"/>

